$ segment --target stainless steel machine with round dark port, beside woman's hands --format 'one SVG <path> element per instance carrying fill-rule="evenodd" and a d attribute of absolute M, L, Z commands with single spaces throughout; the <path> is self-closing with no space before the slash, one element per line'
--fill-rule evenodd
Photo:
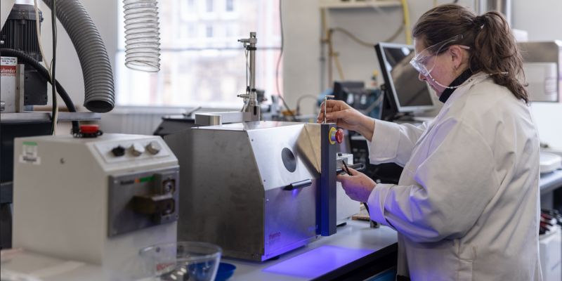
<path fill-rule="evenodd" d="M 165 136 L 182 178 L 178 240 L 265 261 L 334 234 L 336 132 L 335 124 L 262 121 Z"/>

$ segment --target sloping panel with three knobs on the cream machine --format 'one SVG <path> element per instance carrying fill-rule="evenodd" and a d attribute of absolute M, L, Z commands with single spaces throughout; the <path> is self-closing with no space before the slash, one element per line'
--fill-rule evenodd
<path fill-rule="evenodd" d="M 170 152 L 164 149 L 161 139 L 153 138 L 136 141 L 112 141 L 96 143 L 96 150 L 108 164 L 139 159 L 167 157 Z"/>

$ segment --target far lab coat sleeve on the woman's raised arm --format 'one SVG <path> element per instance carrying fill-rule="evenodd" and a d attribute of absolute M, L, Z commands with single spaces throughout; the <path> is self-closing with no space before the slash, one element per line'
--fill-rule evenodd
<path fill-rule="evenodd" d="M 426 123 L 414 126 L 376 120 L 372 140 L 367 142 L 371 164 L 395 162 L 404 166 L 425 129 Z"/>

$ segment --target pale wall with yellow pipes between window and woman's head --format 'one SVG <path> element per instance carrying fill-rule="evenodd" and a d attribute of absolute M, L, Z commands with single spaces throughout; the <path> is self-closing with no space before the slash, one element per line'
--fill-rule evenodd
<path fill-rule="evenodd" d="M 299 1 L 282 0 L 284 7 L 285 27 L 285 55 L 283 58 L 283 79 L 287 103 L 296 105 L 296 99 L 303 94 L 318 94 L 332 87 L 327 82 L 327 72 L 324 72 L 324 84 L 321 83 L 320 72 L 320 6 L 319 0 Z M 443 1 L 440 1 L 443 2 Z M 459 1 L 459 4 L 471 6 L 473 1 Z M 429 8 L 433 7 L 433 0 L 408 1 L 410 7 L 410 22 L 414 22 Z M 443 2 L 445 3 L 445 2 Z M 386 8 L 353 8 L 330 9 L 327 13 L 328 27 L 343 27 L 355 34 L 363 41 L 385 41 L 396 32 L 403 21 L 403 11 L 400 6 Z M 405 44 L 405 34 L 400 33 L 395 43 Z M 341 32 L 333 35 L 334 51 L 339 53 L 339 60 L 346 80 L 365 81 L 370 85 L 373 70 L 379 70 L 379 63 L 374 48 L 367 48 L 351 41 Z M 325 58 L 327 60 L 327 56 Z M 326 61 L 326 70 L 327 70 Z M 333 79 L 341 80 L 338 72 L 333 70 Z M 379 83 L 382 77 L 379 75 Z M 313 101 L 303 100 L 301 105 L 304 114 L 312 113 Z M 436 102 L 438 103 L 438 102 Z"/>

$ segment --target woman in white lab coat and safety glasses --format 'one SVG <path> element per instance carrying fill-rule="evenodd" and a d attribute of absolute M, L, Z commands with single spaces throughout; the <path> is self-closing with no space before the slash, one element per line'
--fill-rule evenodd
<path fill-rule="evenodd" d="M 539 141 L 506 20 L 443 5 L 422 15 L 412 35 L 411 64 L 442 110 L 416 127 L 328 100 L 327 120 L 365 136 L 372 163 L 404 166 L 398 185 L 352 169 L 338 181 L 368 203 L 372 220 L 398 231 L 405 280 L 541 280 Z"/>

